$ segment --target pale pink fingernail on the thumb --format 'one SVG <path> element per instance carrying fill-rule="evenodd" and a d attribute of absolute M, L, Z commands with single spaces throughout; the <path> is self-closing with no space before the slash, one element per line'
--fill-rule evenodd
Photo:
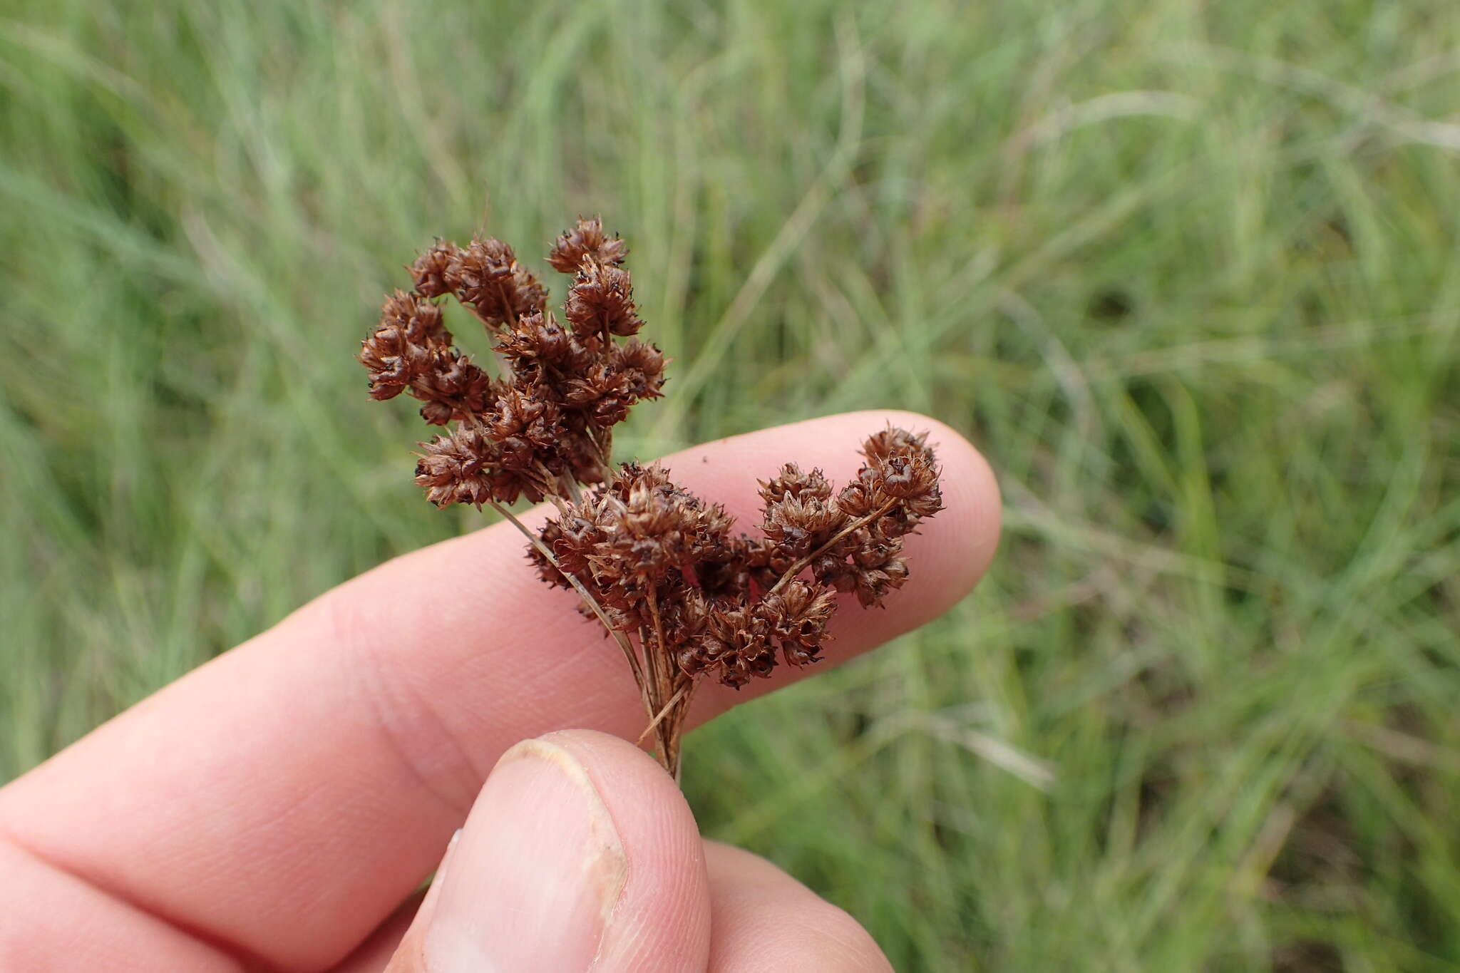
<path fill-rule="evenodd" d="M 472 808 L 426 932 L 432 973 L 588 970 L 628 861 L 609 808 L 562 747 L 508 750 Z"/>

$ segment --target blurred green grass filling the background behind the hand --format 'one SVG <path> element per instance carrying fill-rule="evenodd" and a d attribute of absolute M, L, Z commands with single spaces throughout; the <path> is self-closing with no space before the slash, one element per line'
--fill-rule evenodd
<path fill-rule="evenodd" d="M 628 451 L 898 406 L 1006 495 L 949 617 L 692 737 L 708 833 L 899 970 L 1460 969 L 1451 0 L 0 12 L 0 779 L 474 524 L 356 343 L 603 213 Z"/>

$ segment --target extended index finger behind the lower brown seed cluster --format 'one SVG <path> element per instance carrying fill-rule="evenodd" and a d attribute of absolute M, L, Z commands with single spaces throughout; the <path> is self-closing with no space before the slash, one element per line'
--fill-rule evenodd
<path fill-rule="evenodd" d="M 879 411 L 666 461 L 748 524 L 756 477 L 794 460 L 845 481 L 888 422 L 931 430 L 946 509 L 908 538 L 912 576 L 888 611 L 838 613 L 829 661 L 923 624 L 974 585 L 999 532 L 984 460 L 940 423 Z M 226 951 L 327 967 L 429 872 L 507 747 L 562 726 L 629 740 L 642 728 L 622 656 L 523 550 L 496 525 L 342 585 L 0 791 L 0 834 Z M 707 687 L 694 718 L 752 694 Z"/>

